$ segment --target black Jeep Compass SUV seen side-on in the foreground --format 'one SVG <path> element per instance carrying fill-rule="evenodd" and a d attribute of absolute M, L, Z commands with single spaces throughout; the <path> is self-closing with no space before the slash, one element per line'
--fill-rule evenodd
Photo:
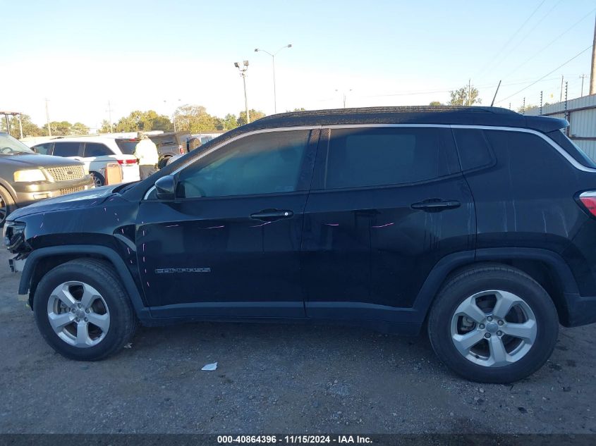
<path fill-rule="evenodd" d="M 137 323 L 339 321 L 518 380 L 596 321 L 596 165 L 565 120 L 489 107 L 284 113 L 134 185 L 13 213 L 49 345 L 117 352 Z M 66 225 L 64 222 L 68 222 Z"/>

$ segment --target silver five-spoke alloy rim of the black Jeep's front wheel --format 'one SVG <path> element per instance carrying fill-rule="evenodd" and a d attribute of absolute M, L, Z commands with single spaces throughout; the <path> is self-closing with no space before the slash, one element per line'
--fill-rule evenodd
<path fill-rule="evenodd" d="M 47 316 L 54 333 L 78 348 L 102 342 L 110 326 L 109 309 L 102 295 L 79 281 L 61 283 L 54 288 L 48 300 Z"/>

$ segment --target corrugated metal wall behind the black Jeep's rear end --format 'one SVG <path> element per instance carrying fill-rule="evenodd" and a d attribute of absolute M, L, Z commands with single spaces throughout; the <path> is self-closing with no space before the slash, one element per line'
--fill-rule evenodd
<path fill-rule="evenodd" d="M 566 110 L 566 111 L 565 111 Z M 540 107 L 528 109 L 526 115 L 540 115 Z M 568 137 L 596 161 L 596 94 L 569 99 L 542 107 L 542 116 L 569 121 Z"/>

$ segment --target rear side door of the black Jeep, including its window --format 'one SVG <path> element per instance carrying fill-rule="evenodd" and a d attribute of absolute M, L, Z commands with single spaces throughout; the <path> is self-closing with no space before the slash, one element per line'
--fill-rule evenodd
<path fill-rule="evenodd" d="M 473 249 L 448 127 L 323 130 L 305 208 L 307 316 L 408 321 L 439 259 Z"/>

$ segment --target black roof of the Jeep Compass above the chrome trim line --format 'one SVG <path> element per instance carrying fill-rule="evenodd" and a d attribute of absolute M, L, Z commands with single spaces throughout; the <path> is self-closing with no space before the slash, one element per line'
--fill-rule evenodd
<path fill-rule="evenodd" d="M 460 124 L 494 125 L 530 128 L 550 132 L 565 128 L 564 119 L 545 116 L 525 116 L 500 107 L 481 106 L 406 106 L 367 107 L 363 109 L 331 109 L 292 111 L 266 116 L 238 128 L 241 132 L 262 128 L 293 127 L 298 125 L 334 124 Z"/>

